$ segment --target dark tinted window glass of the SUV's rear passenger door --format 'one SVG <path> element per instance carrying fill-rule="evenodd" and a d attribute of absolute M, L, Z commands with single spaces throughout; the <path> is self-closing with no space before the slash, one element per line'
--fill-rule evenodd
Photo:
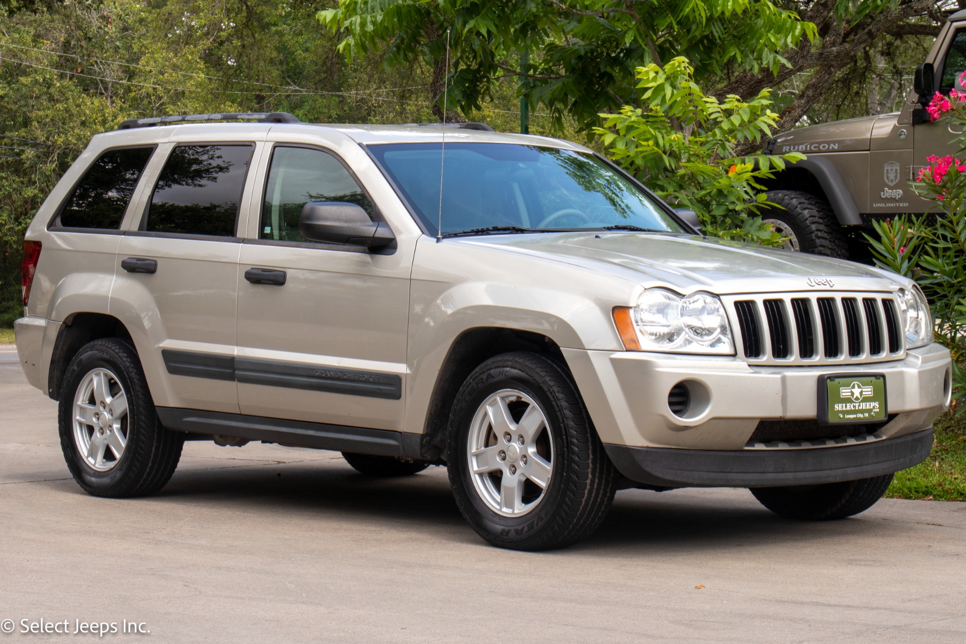
<path fill-rule="evenodd" d="M 250 145 L 178 146 L 157 180 L 145 230 L 235 237 Z"/>

